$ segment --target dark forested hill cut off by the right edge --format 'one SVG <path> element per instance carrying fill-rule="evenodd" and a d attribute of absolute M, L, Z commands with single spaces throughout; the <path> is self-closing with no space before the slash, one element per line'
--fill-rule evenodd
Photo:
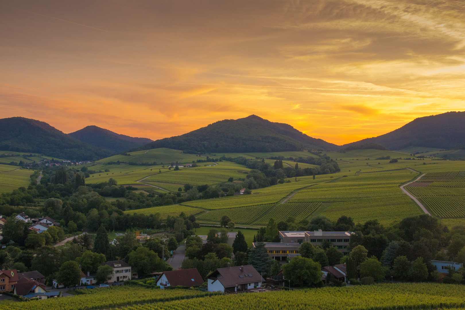
<path fill-rule="evenodd" d="M 420 117 L 410 123 L 375 138 L 343 145 L 377 143 L 391 150 L 409 146 L 456 149 L 465 145 L 465 112 L 446 112 Z"/>

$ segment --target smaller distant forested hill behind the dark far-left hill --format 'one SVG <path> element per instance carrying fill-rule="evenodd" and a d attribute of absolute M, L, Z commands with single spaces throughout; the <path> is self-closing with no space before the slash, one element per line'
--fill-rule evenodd
<path fill-rule="evenodd" d="M 76 132 L 68 133 L 68 135 L 81 142 L 86 142 L 114 152 L 124 152 L 152 142 L 152 140 L 148 138 L 129 137 L 93 125 L 82 128 Z"/>

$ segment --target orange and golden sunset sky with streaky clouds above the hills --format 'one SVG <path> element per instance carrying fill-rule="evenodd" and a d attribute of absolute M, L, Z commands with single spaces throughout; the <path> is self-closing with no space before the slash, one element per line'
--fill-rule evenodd
<path fill-rule="evenodd" d="M 0 115 L 160 139 L 256 114 L 341 145 L 464 111 L 464 52 L 464 0 L 0 0 Z"/>

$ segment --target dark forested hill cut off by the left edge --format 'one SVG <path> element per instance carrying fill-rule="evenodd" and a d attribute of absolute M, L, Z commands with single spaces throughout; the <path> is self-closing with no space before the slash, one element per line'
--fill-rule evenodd
<path fill-rule="evenodd" d="M 47 123 L 23 117 L 0 119 L 0 151 L 77 160 L 105 158 L 114 153 L 74 139 Z"/>

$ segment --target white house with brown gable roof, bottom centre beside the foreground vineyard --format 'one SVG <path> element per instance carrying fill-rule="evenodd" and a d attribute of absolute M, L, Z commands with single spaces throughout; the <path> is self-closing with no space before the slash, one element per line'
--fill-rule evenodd
<path fill-rule="evenodd" d="M 209 292 L 241 292 L 260 288 L 264 279 L 252 265 L 218 268 L 208 275 Z"/>

